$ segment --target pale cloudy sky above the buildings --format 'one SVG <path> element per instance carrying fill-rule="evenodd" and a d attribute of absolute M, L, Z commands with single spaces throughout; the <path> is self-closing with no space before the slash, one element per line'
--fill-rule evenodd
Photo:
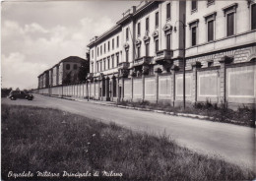
<path fill-rule="evenodd" d="M 68 56 L 86 58 L 87 44 L 138 1 L 4 1 L 1 87 L 34 89 L 37 76 Z"/>

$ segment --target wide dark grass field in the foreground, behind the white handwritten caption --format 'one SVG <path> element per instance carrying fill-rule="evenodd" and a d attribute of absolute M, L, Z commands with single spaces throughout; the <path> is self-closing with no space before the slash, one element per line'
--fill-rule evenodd
<path fill-rule="evenodd" d="M 181 148 L 165 134 L 134 133 L 60 110 L 2 104 L 2 179 L 251 180 L 251 170 Z M 39 172 L 59 176 L 40 177 Z M 98 177 L 63 176 L 96 173 Z M 110 176 L 111 175 L 111 176 Z"/>

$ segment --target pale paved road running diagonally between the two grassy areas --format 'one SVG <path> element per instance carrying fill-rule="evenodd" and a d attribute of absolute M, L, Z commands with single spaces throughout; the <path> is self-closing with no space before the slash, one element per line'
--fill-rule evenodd
<path fill-rule="evenodd" d="M 165 131 L 180 146 L 218 155 L 229 162 L 256 170 L 255 130 L 252 128 L 42 95 L 35 95 L 33 101 L 2 98 L 2 103 L 58 108 L 157 135 Z"/>

